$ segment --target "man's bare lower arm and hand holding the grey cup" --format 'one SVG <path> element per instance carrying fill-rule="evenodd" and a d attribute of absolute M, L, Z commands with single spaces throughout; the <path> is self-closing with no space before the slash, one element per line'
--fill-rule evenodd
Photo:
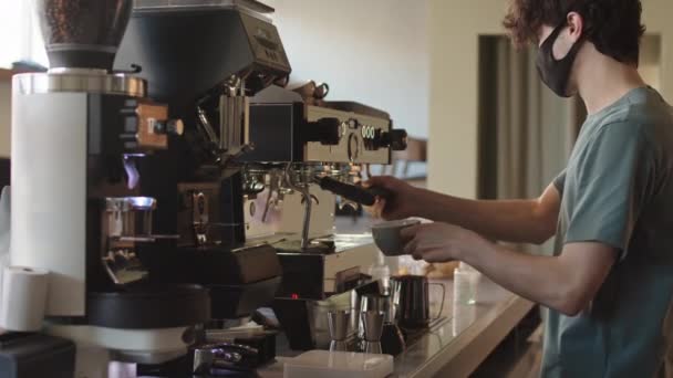
<path fill-rule="evenodd" d="M 402 230 L 405 252 L 427 262 L 460 260 L 500 286 L 567 315 L 593 300 L 617 261 L 618 250 L 604 243 L 567 243 L 558 256 L 518 253 L 475 232 L 447 223 Z"/>

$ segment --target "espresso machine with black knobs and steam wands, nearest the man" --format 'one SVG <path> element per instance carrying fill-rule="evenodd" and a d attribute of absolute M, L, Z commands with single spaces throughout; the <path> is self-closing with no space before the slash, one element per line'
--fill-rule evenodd
<path fill-rule="evenodd" d="M 327 348 L 328 314 L 350 313 L 348 334 L 358 329 L 359 300 L 379 293 L 367 269 L 379 250 L 369 235 L 334 232 L 335 204 L 371 206 L 386 193 L 360 186 L 370 165 L 391 164 L 406 148 L 406 132 L 390 115 L 354 102 L 325 101 L 327 84 L 269 87 L 251 99 L 245 187 L 249 240 L 278 250 L 283 269 L 273 302 L 292 349 Z M 369 174 L 371 175 L 371 174 Z"/>

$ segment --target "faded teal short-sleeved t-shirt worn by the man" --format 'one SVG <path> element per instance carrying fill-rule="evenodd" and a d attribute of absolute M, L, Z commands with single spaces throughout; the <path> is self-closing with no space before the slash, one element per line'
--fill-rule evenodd
<path fill-rule="evenodd" d="M 591 115 L 555 180 L 563 244 L 614 246 L 615 264 L 591 305 L 549 309 L 542 377 L 671 376 L 673 109 L 652 88 Z"/>

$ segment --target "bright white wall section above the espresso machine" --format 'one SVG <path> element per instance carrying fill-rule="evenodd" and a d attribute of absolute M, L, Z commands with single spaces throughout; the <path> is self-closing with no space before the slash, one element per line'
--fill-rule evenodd
<path fill-rule="evenodd" d="M 271 0 L 292 81 L 330 84 L 328 99 L 386 111 L 427 137 L 427 0 Z"/>

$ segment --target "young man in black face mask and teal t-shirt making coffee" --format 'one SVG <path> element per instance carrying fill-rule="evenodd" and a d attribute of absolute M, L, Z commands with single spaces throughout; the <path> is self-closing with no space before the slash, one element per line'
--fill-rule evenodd
<path fill-rule="evenodd" d="M 673 112 L 636 67 L 639 0 L 514 0 L 505 27 L 539 44 L 538 69 L 589 116 L 567 169 L 538 199 L 473 201 L 370 181 L 394 196 L 386 219 L 435 223 L 403 231 L 406 252 L 465 261 L 548 308 L 543 377 L 671 376 Z M 541 243 L 551 256 L 490 240 Z"/>

